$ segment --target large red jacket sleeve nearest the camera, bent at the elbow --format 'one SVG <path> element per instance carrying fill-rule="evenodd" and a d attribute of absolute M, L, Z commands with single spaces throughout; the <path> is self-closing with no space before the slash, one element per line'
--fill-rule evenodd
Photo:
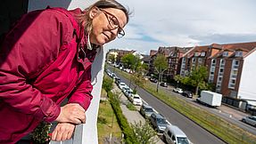
<path fill-rule="evenodd" d="M 0 102 L 46 122 L 54 121 L 61 109 L 30 81 L 58 55 L 65 28 L 60 18 L 57 12 L 29 12 L 5 37 L 0 50 Z"/>

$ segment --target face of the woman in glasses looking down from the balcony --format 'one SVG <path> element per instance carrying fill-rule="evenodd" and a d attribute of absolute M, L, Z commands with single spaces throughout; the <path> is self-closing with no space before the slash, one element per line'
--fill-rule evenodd
<path fill-rule="evenodd" d="M 93 19 L 92 30 L 89 34 L 92 44 L 103 45 L 111 42 L 127 24 L 125 13 L 119 9 L 95 8 L 89 16 Z"/>

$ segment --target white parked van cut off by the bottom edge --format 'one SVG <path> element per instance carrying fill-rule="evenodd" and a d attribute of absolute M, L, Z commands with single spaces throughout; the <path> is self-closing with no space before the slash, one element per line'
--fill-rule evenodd
<path fill-rule="evenodd" d="M 163 132 L 163 138 L 168 144 L 190 144 L 186 134 L 176 125 L 167 125 Z"/>

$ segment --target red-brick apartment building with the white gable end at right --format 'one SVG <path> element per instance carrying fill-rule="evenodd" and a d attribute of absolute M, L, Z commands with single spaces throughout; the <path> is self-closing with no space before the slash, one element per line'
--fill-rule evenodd
<path fill-rule="evenodd" d="M 180 75 L 186 76 L 193 68 L 209 68 L 209 83 L 216 92 L 256 106 L 256 42 L 239 44 L 211 44 L 195 46 L 181 60 Z"/>

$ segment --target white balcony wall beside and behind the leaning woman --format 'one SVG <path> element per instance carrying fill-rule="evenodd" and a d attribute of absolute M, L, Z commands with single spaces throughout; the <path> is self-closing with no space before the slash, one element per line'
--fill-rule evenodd
<path fill-rule="evenodd" d="M 96 0 L 29 0 L 28 12 L 38 9 L 45 9 L 47 5 L 51 7 L 64 7 L 68 10 L 81 8 L 85 9 L 88 5 L 95 3 Z M 99 101 L 103 82 L 103 65 L 105 52 L 100 51 L 97 53 L 92 67 L 92 84 L 94 90 L 92 92 L 94 99 L 90 107 L 87 109 L 87 124 L 81 124 L 76 127 L 76 132 L 72 140 L 63 142 L 51 141 L 52 144 L 97 144 L 97 116 Z"/>

